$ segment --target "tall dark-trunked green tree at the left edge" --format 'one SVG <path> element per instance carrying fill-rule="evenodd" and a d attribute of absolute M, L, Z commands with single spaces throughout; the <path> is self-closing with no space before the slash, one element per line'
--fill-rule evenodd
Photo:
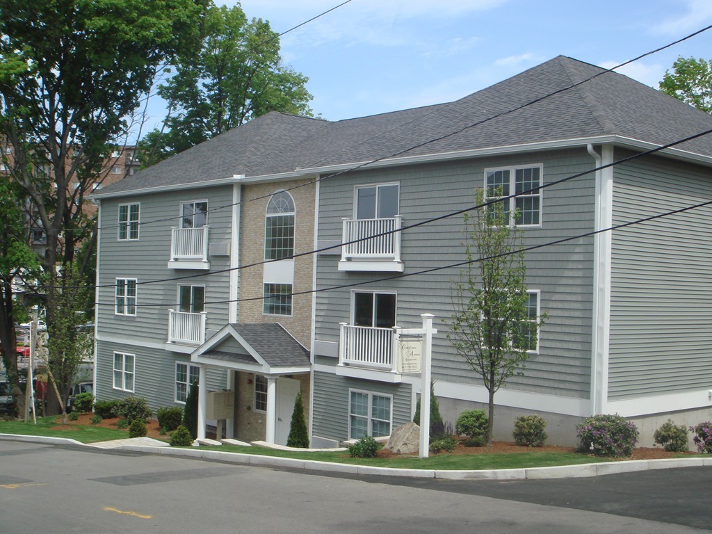
<path fill-rule="evenodd" d="M 28 216 L 45 232 L 46 276 L 38 279 L 47 285 L 38 294 L 50 334 L 61 319 L 61 278 L 74 271 L 68 266 L 78 244 L 95 238 L 85 194 L 105 176 L 105 159 L 125 140 L 157 70 L 195 48 L 206 1 L 2 3 L 0 137 L 11 147 L 9 174 L 28 198 Z M 26 236 L 13 239 L 26 243 Z M 82 262 L 80 274 L 89 268 L 90 261 Z M 11 316 L 0 315 L 0 331 L 11 328 Z"/>

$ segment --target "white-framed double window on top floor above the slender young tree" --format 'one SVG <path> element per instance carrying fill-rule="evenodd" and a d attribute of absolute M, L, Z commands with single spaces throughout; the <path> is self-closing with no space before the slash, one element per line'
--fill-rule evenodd
<path fill-rule="evenodd" d="M 485 169 L 485 199 L 496 200 L 542 185 L 543 164 Z M 541 226 L 541 189 L 503 200 L 513 226 Z M 516 214 L 516 215 L 515 215 Z"/>

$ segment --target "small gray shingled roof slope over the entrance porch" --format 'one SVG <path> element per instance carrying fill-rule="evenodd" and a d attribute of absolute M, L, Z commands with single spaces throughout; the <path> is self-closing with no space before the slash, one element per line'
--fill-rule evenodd
<path fill-rule="evenodd" d="M 232 323 L 231 326 L 270 367 L 310 365 L 309 351 L 279 323 Z"/>

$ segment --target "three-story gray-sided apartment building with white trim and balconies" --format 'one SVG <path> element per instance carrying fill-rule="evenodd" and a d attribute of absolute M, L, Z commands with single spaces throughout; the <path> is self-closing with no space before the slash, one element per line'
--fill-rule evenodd
<path fill-rule="evenodd" d="M 127 394 L 129 380 L 167 405 L 199 376 L 203 394 L 234 393 L 230 435 L 280 441 L 300 389 L 314 444 L 387 435 L 420 388 L 397 371 L 392 327 L 432 313 L 435 393 L 454 421 L 486 391 L 444 335 L 463 221 L 439 217 L 473 206 L 476 188 L 541 186 L 510 207 L 526 246 L 540 246 L 526 256 L 529 303 L 549 318 L 524 375 L 497 394 L 498 437 L 531 412 L 560 444 L 595 413 L 635 419 L 644 439 L 668 417 L 709 419 L 712 208 L 685 208 L 712 199 L 712 139 L 619 161 L 711 128 L 703 112 L 563 56 L 452 103 L 253 120 L 95 195 L 108 285 L 98 397 Z M 203 255 L 175 257 L 172 233 L 196 233 L 203 211 Z M 174 337 L 177 313 L 203 317 L 197 335 Z M 270 344 L 274 323 L 297 345 Z"/>

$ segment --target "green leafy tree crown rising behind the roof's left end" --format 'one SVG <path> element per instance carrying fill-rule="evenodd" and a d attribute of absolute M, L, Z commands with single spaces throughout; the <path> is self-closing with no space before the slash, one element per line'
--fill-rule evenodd
<path fill-rule="evenodd" d="M 283 65 L 267 21 L 248 21 L 239 4 L 211 6 L 201 38 L 199 53 L 179 57 L 159 88 L 169 108 L 166 129 L 142 140 L 142 162 L 158 162 L 270 111 L 313 115 L 308 78 Z"/>

